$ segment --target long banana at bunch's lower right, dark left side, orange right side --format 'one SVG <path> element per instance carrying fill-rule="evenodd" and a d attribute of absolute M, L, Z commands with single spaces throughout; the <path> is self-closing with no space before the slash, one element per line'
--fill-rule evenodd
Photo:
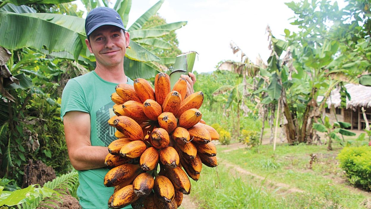
<path fill-rule="evenodd" d="M 166 177 L 173 183 L 174 188 L 179 190 L 183 194 L 189 194 L 191 192 L 191 182 L 188 179 L 187 174 L 179 168 L 168 168 L 166 169 Z"/>

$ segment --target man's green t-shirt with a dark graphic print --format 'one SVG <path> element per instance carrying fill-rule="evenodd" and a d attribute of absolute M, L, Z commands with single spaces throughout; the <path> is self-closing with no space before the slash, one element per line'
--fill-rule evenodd
<path fill-rule="evenodd" d="M 128 78 L 128 83 L 133 81 Z M 108 125 L 107 121 L 115 113 L 112 106 L 111 94 L 115 92 L 117 83 L 111 83 L 99 77 L 95 71 L 89 72 L 76 78 L 72 78 L 66 84 L 62 93 L 62 107 L 60 117 L 68 111 L 81 111 L 90 114 L 91 132 L 90 141 L 92 146 L 108 145 L 116 139 L 115 128 Z M 104 176 L 109 168 L 78 171 L 80 186 L 77 196 L 83 209 L 106 209 L 108 199 L 114 192 L 114 187 L 105 187 Z M 125 208 L 131 208 L 127 206 Z"/>

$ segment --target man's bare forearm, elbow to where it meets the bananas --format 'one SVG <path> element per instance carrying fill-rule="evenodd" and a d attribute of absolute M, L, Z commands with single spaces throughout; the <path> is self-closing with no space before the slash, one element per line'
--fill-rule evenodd
<path fill-rule="evenodd" d="M 88 170 L 105 167 L 107 147 L 83 146 L 69 154 L 71 164 L 76 170 Z"/>

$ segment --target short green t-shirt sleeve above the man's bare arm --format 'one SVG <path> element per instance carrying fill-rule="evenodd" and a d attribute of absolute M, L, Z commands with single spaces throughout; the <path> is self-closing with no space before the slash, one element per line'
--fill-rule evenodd
<path fill-rule="evenodd" d="M 60 118 L 69 111 L 81 111 L 89 113 L 85 93 L 81 85 L 75 80 L 69 80 L 63 89 L 62 104 L 60 107 Z"/>

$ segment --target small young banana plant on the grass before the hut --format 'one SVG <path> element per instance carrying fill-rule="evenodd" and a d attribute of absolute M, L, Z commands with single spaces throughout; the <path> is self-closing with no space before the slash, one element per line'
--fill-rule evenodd
<path fill-rule="evenodd" d="M 346 128 L 351 126 L 350 123 L 347 122 L 334 122 L 332 125 L 329 122 L 329 117 L 326 115 L 324 118 L 324 124 L 321 123 L 313 123 L 313 129 L 316 131 L 325 133 L 325 136 L 328 137 L 328 150 L 332 150 L 332 139 L 339 142 L 341 145 L 342 140 L 339 138 L 337 134 L 345 135 L 345 136 L 355 136 L 354 132 L 348 131 Z M 364 136 L 363 136 L 364 137 Z"/>

